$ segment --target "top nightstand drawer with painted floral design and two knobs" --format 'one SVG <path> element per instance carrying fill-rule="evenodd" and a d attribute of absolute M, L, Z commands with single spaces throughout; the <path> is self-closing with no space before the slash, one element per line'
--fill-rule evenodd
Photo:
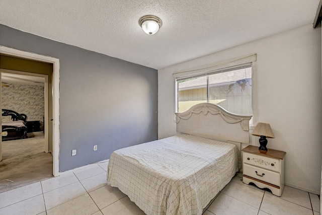
<path fill-rule="evenodd" d="M 280 172 L 280 160 L 274 158 L 268 158 L 265 156 L 254 155 L 244 152 L 243 156 L 244 164 L 250 164 L 260 168 L 265 168 L 275 172 Z"/>

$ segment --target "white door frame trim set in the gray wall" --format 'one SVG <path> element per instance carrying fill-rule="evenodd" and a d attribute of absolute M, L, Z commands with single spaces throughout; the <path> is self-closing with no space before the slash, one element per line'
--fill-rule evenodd
<path fill-rule="evenodd" d="M 53 156 L 53 176 L 59 176 L 59 59 L 31 53 L 27 51 L 21 51 L 14 48 L 9 48 L 0 45 L 0 53 L 11 55 L 15 57 L 36 60 L 41 62 L 47 62 L 53 64 L 53 77 L 52 77 L 52 110 L 53 110 L 53 126 L 52 126 L 52 156 Z"/>

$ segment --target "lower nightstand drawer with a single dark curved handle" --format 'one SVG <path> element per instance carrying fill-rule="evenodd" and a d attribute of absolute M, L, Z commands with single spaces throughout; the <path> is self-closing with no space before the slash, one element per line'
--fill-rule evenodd
<path fill-rule="evenodd" d="M 280 186 L 280 174 L 276 172 L 244 164 L 243 174 L 270 184 L 274 184 L 276 186 Z"/>

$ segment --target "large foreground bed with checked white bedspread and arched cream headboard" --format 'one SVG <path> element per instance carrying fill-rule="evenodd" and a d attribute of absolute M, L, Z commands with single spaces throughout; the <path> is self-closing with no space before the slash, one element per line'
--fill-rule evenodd
<path fill-rule="evenodd" d="M 176 113 L 177 135 L 112 153 L 107 183 L 146 214 L 202 214 L 240 168 L 250 119 L 210 103 Z"/>

